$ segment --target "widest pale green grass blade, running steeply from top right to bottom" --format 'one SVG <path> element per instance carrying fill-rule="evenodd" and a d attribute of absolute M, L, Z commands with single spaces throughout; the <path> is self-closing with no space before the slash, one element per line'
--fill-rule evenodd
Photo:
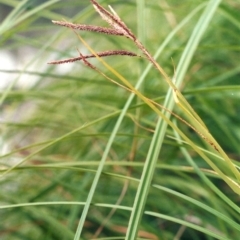
<path fill-rule="evenodd" d="M 213 14 L 214 14 L 216 8 L 220 4 L 220 2 L 221 2 L 220 0 L 210 1 L 208 3 L 207 7 L 205 8 L 205 11 L 203 12 L 202 16 L 200 17 L 200 19 L 193 31 L 193 34 L 191 35 L 189 42 L 184 50 L 184 53 L 181 57 L 181 60 L 180 60 L 181 64 L 178 65 L 177 82 L 176 82 L 177 86 L 179 86 L 181 84 L 181 82 L 183 81 L 184 75 L 187 71 L 187 68 L 188 68 L 190 62 L 191 62 L 192 56 L 197 48 L 197 45 L 198 45 L 203 33 L 205 32 L 211 18 L 213 17 Z M 204 22 L 205 24 L 203 25 L 204 19 L 207 19 L 207 21 L 205 21 Z M 195 39 L 195 41 L 194 41 L 194 39 Z M 184 64 L 185 61 L 186 61 L 186 63 Z M 174 106 L 174 96 L 173 96 L 172 90 L 169 89 L 164 107 L 171 111 L 173 106 Z M 165 114 L 165 116 L 167 118 L 169 118 L 170 114 L 168 112 L 166 113 L 165 111 L 163 111 L 163 114 Z M 127 231 L 127 235 L 126 235 L 126 240 L 135 240 L 137 237 L 138 227 L 141 222 L 142 214 L 143 214 L 144 207 L 145 207 L 145 202 L 147 200 L 149 187 L 150 187 L 150 184 L 152 181 L 152 177 L 153 177 L 153 173 L 155 170 L 158 155 L 161 150 L 161 146 L 162 146 L 162 142 L 163 142 L 164 135 L 166 132 L 166 128 L 167 128 L 167 123 L 164 122 L 160 118 L 157 123 L 157 126 L 156 126 L 156 130 L 155 130 L 152 142 L 151 142 L 151 146 L 148 151 L 146 163 L 144 165 L 140 184 L 138 186 L 138 191 L 137 191 L 137 194 L 135 197 L 133 210 L 132 210 L 132 214 L 131 214 L 129 225 L 128 225 L 129 227 L 128 227 L 128 231 Z"/>

